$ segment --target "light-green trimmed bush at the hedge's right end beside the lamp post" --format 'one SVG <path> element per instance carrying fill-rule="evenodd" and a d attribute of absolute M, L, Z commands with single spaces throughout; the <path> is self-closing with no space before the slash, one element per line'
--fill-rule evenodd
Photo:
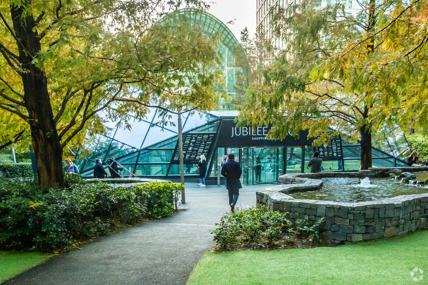
<path fill-rule="evenodd" d="M 150 182 L 134 187 L 135 194 L 147 205 L 146 216 L 150 219 L 160 219 L 172 214 L 174 208 L 180 205 L 180 183 Z"/>

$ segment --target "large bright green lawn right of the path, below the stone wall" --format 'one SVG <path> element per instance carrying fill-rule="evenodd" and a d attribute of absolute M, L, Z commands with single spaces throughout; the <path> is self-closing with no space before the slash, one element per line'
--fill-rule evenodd
<path fill-rule="evenodd" d="M 414 268 L 425 271 L 421 281 L 412 280 Z M 195 284 L 428 284 L 428 231 L 338 247 L 210 252 L 189 278 Z"/>

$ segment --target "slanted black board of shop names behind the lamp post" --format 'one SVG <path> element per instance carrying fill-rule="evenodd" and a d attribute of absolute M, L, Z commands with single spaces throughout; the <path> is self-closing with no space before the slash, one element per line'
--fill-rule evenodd
<path fill-rule="evenodd" d="M 207 159 L 211 157 L 215 143 L 216 134 L 207 133 L 185 133 L 183 134 L 183 157 L 184 164 L 193 164 L 199 162 L 199 156 L 203 154 Z M 172 154 L 172 164 L 180 164 L 179 144 L 175 147 Z"/>

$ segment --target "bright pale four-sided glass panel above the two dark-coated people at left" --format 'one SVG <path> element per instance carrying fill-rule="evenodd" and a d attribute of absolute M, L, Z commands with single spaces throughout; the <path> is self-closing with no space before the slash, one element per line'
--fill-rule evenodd
<path fill-rule="evenodd" d="M 125 129 L 124 126 L 118 128 L 115 133 L 115 140 L 139 149 L 146 137 L 150 123 L 137 121 L 132 117 L 128 124 L 131 125 L 131 129 Z"/>

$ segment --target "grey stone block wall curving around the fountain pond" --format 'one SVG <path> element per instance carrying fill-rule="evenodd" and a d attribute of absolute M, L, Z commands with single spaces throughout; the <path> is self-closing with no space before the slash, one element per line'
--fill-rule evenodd
<path fill-rule="evenodd" d="M 257 204 L 288 212 L 291 222 L 324 218 L 324 237 L 335 242 L 391 238 L 427 227 L 428 193 L 359 203 L 299 200 L 287 194 L 315 190 L 322 181 L 290 175 L 280 181 L 284 184 L 257 191 Z"/>

